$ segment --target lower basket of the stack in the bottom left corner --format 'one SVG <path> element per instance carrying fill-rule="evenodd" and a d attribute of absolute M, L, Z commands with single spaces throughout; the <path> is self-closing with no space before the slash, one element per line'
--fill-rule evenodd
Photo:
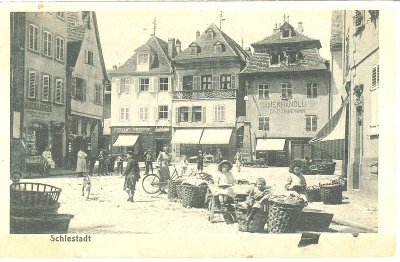
<path fill-rule="evenodd" d="M 73 215 L 44 214 L 37 218 L 10 216 L 10 234 L 66 234 Z"/>

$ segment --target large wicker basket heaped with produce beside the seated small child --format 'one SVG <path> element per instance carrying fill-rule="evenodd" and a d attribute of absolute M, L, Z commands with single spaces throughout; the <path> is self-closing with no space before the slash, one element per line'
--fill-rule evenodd
<path fill-rule="evenodd" d="M 268 199 L 268 233 L 295 233 L 306 205 L 298 196 L 276 195 Z"/>

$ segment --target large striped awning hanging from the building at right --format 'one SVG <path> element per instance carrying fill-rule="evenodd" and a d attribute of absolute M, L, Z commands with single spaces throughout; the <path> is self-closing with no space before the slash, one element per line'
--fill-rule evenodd
<path fill-rule="evenodd" d="M 325 151 L 333 159 L 343 160 L 346 137 L 346 105 L 348 97 L 339 110 L 322 129 L 309 141 L 309 144 Z"/>

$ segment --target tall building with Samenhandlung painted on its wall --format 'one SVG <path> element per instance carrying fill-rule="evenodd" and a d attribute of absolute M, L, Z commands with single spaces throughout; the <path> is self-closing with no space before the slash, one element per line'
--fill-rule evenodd
<path fill-rule="evenodd" d="M 243 156 L 266 159 L 269 166 L 330 156 L 308 144 L 328 121 L 329 62 L 321 44 L 284 22 L 251 44 L 254 53 L 240 72 L 246 83 L 246 117 L 242 119 Z"/>

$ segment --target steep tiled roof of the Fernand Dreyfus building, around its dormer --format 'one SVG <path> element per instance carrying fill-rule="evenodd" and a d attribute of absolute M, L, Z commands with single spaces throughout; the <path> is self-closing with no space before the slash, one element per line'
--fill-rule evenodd
<path fill-rule="evenodd" d="M 152 67 L 146 72 L 136 72 L 136 53 L 134 53 L 124 64 L 122 64 L 118 69 L 110 72 L 111 75 L 115 74 L 153 74 L 153 73 L 167 73 L 170 71 L 170 58 L 168 57 L 168 43 L 164 40 L 151 36 L 147 42 L 141 45 L 136 51 L 146 49 L 152 50 L 156 53 Z"/>

